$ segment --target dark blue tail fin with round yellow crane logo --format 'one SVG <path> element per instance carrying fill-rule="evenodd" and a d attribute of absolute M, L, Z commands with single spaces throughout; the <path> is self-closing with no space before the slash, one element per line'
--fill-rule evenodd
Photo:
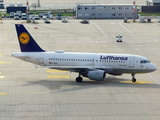
<path fill-rule="evenodd" d="M 21 52 L 45 52 L 22 24 L 15 24 Z"/>

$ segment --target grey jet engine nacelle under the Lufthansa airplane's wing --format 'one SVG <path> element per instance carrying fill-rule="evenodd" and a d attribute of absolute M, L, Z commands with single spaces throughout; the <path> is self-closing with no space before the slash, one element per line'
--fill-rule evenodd
<path fill-rule="evenodd" d="M 103 70 L 89 71 L 88 78 L 96 81 L 103 81 L 106 78 L 106 73 Z"/>

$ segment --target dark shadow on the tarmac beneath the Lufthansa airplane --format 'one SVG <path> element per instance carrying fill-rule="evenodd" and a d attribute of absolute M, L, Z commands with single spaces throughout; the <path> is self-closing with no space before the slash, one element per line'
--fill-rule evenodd
<path fill-rule="evenodd" d="M 120 81 L 126 81 L 120 82 Z M 130 80 L 131 81 L 131 80 Z M 160 85 L 157 83 L 132 83 L 128 79 L 117 79 L 117 78 L 107 78 L 105 81 L 96 82 L 90 80 L 84 80 L 82 83 L 77 83 L 75 81 L 68 80 L 39 80 L 39 81 L 29 81 L 28 84 L 24 84 L 22 86 L 32 86 L 32 85 L 41 85 L 46 87 L 48 90 L 51 90 L 53 93 L 63 93 L 63 92 L 71 92 L 71 91 L 80 91 L 84 89 L 94 89 L 94 88 L 111 88 L 111 87 L 123 87 L 123 88 L 152 88 L 160 90 Z M 147 82 L 147 81 L 146 81 Z M 62 88 L 62 86 L 71 86 L 67 88 Z M 52 93 L 51 92 L 51 93 Z"/>

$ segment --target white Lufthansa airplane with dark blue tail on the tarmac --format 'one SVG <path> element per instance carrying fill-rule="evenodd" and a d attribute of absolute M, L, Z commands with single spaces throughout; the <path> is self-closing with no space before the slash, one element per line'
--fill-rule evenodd
<path fill-rule="evenodd" d="M 147 58 L 130 54 L 79 53 L 79 52 L 46 52 L 39 47 L 22 24 L 15 25 L 21 52 L 12 56 L 26 62 L 50 69 L 68 70 L 79 73 L 77 82 L 83 77 L 95 81 L 104 81 L 106 73 L 110 75 L 132 75 L 132 82 L 136 82 L 135 74 L 155 71 L 156 65 Z"/>

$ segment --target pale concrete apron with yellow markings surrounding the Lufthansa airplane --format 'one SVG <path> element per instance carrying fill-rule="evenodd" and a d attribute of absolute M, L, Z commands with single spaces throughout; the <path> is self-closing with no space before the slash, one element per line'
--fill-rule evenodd
<path fill-rule="evenodd" d="M 160 28 L 156 20 L 91 20 L 88 25 L 79 21 L 23 24 L 47 51 L 138 54 L 160 67 Z M 77 73 L 35 69 L 33 64 L 11 57 L 20 51 L 15 23 L 22 21 L 3 20 L 0 27 L 1 120 L 160 119 L 159 69 L 137 74 L 136 83 L 132 83 L 130 74 L 107 75 L 103 82 L 86 78 L 77 83 Z M 116 42 L 117 34 L 123 36 L 122 43 Z"/>

